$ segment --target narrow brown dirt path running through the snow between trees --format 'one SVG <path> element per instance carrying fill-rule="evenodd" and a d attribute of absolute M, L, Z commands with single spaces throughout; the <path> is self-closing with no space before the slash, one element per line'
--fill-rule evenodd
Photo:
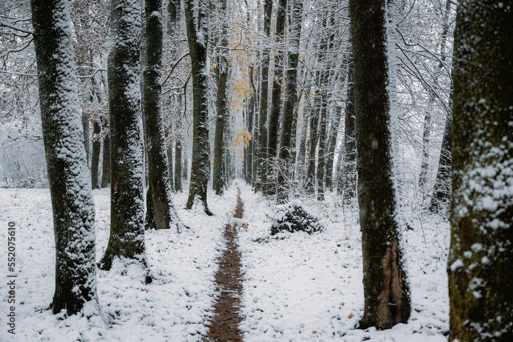
<path fill-rule="evenodd" d="M 237 207 L 233 216 L 242 218 L 244 204 L 241 200 L 241 190 L 239 188 L 237 190 Z M 224 232 L 226 251 L 219 257 L 219 270 L 215 274 L 219 296 L 214 305 L 214 320 L 207 334 L 208 341 L 242 342 L 242 332 L 239 330 L 242 294 L 241 253 L 237 250 L 239 245 L 236 236 L 236 231 L 231 233 L 230 225 L 227 224 Z"/>

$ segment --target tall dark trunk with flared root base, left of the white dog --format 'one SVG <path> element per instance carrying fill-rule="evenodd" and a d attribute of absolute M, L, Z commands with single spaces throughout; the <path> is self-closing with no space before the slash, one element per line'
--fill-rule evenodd
<path fill-rule="evenodd" d="M 192 165 L 187 209 L 200 200 L 207 215 L 207 185 L 210 172 L 208 147 L 208 4 L 185 0 L 185 24 L 192 62 L 193 133 Z"/>

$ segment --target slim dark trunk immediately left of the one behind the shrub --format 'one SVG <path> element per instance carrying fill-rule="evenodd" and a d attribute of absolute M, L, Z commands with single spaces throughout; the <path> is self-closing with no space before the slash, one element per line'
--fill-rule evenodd
<path fill-rule="evenodd" d="M 287 0 L 278 0 L 276 8 L 276 31 L 274 37 L 274 71 L 271 90 L 271 110 L 269 112 L 269 127 L 268 129 L 268 145 L 267 145 L 267 165 L 265 166 L 267 172 L 267 189 L 268 195 L 275 193 L 275 174 L 273 165 L 275 165 L 275 158 L 278 156 L 278 132 L 280 131 L 280 108 L 282 104 L 282 78 L 283 78 L 283 63 L 285 59 L 285 49 L 282 46 L 284 32 L 285 32 L 285 12 L 287 9 Z M 297 73 L 297 71 L 296 71 Z M 294 96 L 295 97 L 295 96 Z M 272 173 L 271 173 L 272 172 Z"/>

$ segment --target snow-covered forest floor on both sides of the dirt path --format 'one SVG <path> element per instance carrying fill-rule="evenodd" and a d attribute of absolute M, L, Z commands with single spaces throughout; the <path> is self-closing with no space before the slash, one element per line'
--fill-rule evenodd
<path fill-rule="evenodd" d="M 270 238 L 273 204 L 239 182 L 249 230 L 239 233 L 243 296 L 240 329 L 247 341 L 445 341 L 448 330 L 446 253 L 449 224 L 438 215 L 408 212 L 414 231 L 405 246 L 411 283 L 412 313 L 408 324 L 390 330 L 359 330 L 363 315 L 362 249 L 358 212 L 339 205 L 305 204 L 324 217 L 327 230 L 309 236 L 294 233 Z M 97 270 L 100 315 L 53 315 L 55 251 L 48 189 L 0 189 L 0 269 L 7 274 L 7 224 L 16 223 L 16 335 L 7 333 L 0 316 L 0 340 L 19 341 L 198 341 L 208 330 L 215 301 L 216 258 L 224 248 L 226 213 L 236 205 L 236 185 L 224 196 L 208 194 L 214 216 L 182 209 L 184 193 L 174 202 L 185 224 L 180 235 L 146 232 L 154 280 L 145 285 L 136 269 L 122 274 L 120 264 Z M 110 190 L 94 190 L 96 260 L 109 238 Z M 422 236 L 419 216 L 423 216 Z M 424 217 L 425 216 L 425 217 Z M 0 289 L 7 293 L 7 281 Z M 7 296 L 1 312 L 7 312 Z M 64 319 L 65 318 L 65 319 Z"/>

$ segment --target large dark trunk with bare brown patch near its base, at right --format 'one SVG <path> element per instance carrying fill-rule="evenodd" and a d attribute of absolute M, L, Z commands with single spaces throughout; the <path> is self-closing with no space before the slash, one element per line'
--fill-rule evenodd
<path fill-rule="evenodd" d="M 407 322 L 411 306 L 394 174 L 388 19 L 385 0 L 349 6 L 365 300 L 360 328 L 389 329 Z"/>

